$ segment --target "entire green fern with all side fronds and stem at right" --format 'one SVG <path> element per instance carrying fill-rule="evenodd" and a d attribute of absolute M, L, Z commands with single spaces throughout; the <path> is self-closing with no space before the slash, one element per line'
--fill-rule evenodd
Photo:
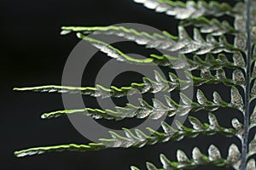
<path fill-rule="evenodd" d="M 148 170 L 155 169 L 189 169 L 201 165 L 213 165 L 218 167 L 233 167 L 234 169 L 256 169 L 253 156 L 256 154 L 256 135 L 249 140 L 248 134 L 256 127 L 256 107 L 252 104 L 256 98 L 256 1 L 237 1 L 234 7 L 228 3 L 216 1 L 205 2 L 203 0 L 186 3 L 171 0 L 134 0 L 143 3 L 147 8 L 156 12 L 174 16 L 180 20 L 178 35 L 172 36 L 167 31 L 161 34 L 149 34 L 136 31 L 123 26 L 96 26 L 78 27 L 63 26 L 61 34 L 75 32 L 77 36 L 98 48 L 109 57 L 132 65 L 151 65 L 152 63 L 166 66 L 171 69 L 183 69 L 183 65 L 172 65 L 170 60 L 186 59 L 189 62 L 189 71 L 185 71 L 187 77 L 192 78 L 193 86 L 197 88 L 196 99 L 191 100 L 185 94 L 180 93 L 179 104 L 175 99 L 165 96 L 166 103 L 153 99 L 153 105 L 149 105 L 144 99 L 139 99 L 140 105 L 127 104 L 126 107 L 116 107 L 114 110 L 100 110 L 96 108 L 78 108 L 74 110 L 53 111 L 44 113 L 42 118 L 52 118 L 70 114 L 83 114 L 93 116 L 96 119 L 112 119 L 115 121 L 127 117 L 140 119 L 159 119 L 162 116 L 187 115 L 190 111 L 208 111 L 208 122 L 201 122 L 195 116 L 189 116 L 190 126 L 184 126 L 176 122 L 177 128 L 173 128 L 167 122 L 161 123 L 161 131 L 154 131 L 147 135 L 136 129 L 134 132 L 123 128 L 125 134 L 110 132 L 111 139 L 100 139 L 101 143 L 90 144 L 63 144 L 56 146 L 37 147 L 27 150 L 15 151 L 15 156 L 31 156 L 50 151 L 89 151 L 105 150 L 108 148 L 143 147 L 146 144 L 157 144 L 167 141 L 179 141 L 183 138 L 195 138 L 198 135 L 213 135 L 221 133 L 226 137 L 236 136 L 241 140 L 241 148 L 236 144 L 230 144 L 227 157 L 223 157 L 213 144 L 209 146 L 208 153 L 203 154 L 198 148 L 192 151 L 192 157 L 188 158 L 183 150 L 177 150 L 177 161 L 169 161 L 166 156 L 160 155 L 162 167 L 156 167 L 147 162 Z M 234 19 L 233 23 L 220 21 L 220 17 L 228 15 Z M 190 37 L 186 29 L 193 26 L 193 37 Z M 106 42 L 86 37 L 87 34 L 106 34 L 124 37 L 129 41 L 137 42 L 146 48 L 164 49 L 166 51 L 178 51 L 178 56 L 168 54 L 151 54 L 147 59 L 135 59 L 114 48 Z M 232 43 L 227 41 L 228 36 L 234 37 Z M 191 58 L 190 54 L 193 54 Z M 226 76 L 226 69 L 232 70 L 232 76 Z M 195 76 L 194 71 L 200 71 L 200 76 Z M 154 72 L 154 80 L 143 77 L 142 82 L 132 82 L 129 87 L 65 87 L 65 86 L 41 86 L 32 88 L 15 88 L 18 91 L 55 92 L 67 94 L 84 94 L 93 97 L 123 97 L 134 93 L 159 93 L 162 91 L 172 92 L 181 90 L 180 83 L 187 84 L 189 80 L 180 79 L 173 72 L 169 72 L 169 80 L 161 77 L 160 73 Z M 221 94 L 213 92 L 212 99 L 207 99 L 200 89 L 203 84 L 218 84 L 230 87 L 230 100 L 224 100 Z M 135 90 L 136 89 L 136 90 Z M 191 103 L 191 105 L 189 105 Z M 177 109 L 179 108 L 179 109 Z M 214 112 L 218 108 L 236 109 L 242 113 L 243 122 L 234 118 L 232 127 L 223 127 L 218 123 L 218 117 Z M 250 108 L 254 108 L 250 113 Z M 137 170 L 138 167 L 131 167 Z"/>

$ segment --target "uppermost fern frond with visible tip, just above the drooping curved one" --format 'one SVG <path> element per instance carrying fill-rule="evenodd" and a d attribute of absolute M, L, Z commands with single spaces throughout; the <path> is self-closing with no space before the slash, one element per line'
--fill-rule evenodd
<path fill-rule="evenodd" d="M 173 37 L 168 32 L 164 31 L 163 34 L 149 35 L 146 32 L 138 32 L 133 29 L 128 29 L 123 26 L 102 26 L 102 27 L 62 27 L 62 30 L 67 31 L 78 31 L 77 35 L 79 38 L 90 42 L 96 48 L 102 50 L 109 50 L 110 46 L 105 42 L 96 40 L 91 37 L 84 36 L 83 33 L 89 33 L 93 31 L 94 34 L 107 34 L 115 35 L 118 37 L 124 37 L 127 40 L 137 42 L 139 45 L 146 45 L 147 48 L 164 49 L 167 51 L 179 51 L 182 54 L 218 54 L 222 51 L 227 53 L 234 53 L 240 51 L 235 48 L 232 44 L 227 42 L 224 36 L 218 38 L 218 41 L 208 35 L 206 39 L 201 36 L 201 33 L 194 29 L 194 39 L 189 37 L 187 31 L 183 26 L 178 27 L 178 37 Z M 63 34 L 63 32 L 62 32 Z"/>

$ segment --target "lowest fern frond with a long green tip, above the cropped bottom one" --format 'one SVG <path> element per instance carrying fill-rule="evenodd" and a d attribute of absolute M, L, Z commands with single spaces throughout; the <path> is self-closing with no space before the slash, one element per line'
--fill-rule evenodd
<path fill-rule="evenodd" d="M 132 133 L 131 130 L 123 128 L 125 136 L 119 135 L 110 131 L 111 139 L 99 139 L 101 143 L 95 144 L 62 144 L 57 146 L 47 146 L 47 147 L 37 147 L 28 150 L 20 150 L 15 152 L 15 156 L 32 156 L 36 154 L 43 154 L 50 151 L 90 151 L 90 150 L 103 150 L 107 148 L 130 148 L 136 147 L 140 148 L 146 144 L 158 144 L 168 141 L 179 141 L 183 138 L 195 138 L 198 135 L 214 135 L 215 133 L 220 133 L 225 137 L 235 136 L 237 131 L 235 128 L 226 128 L 221 127 L 218 124 L 216 116 L 212 113 L 208 115 L 209 124 L 201 123 L 195 117 L 189 116 L 189 122 L 192 124 L 192 127 L 186 127 L 180 122 L 176 122 L 177 128 L 172 128 L 166 122 L 161 123 L 161 127 L 164 132 L 160 133 L 154 131 L 152 128 L 148 127 L 148 132 L 152 133 L 148 135 L 143 133 L 139 129 L 135 129 L 135 133 Z"/>

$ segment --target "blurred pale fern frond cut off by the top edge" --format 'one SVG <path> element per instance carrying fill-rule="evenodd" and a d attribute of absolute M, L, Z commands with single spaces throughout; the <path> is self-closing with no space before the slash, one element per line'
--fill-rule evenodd
<path fill-rule="evenodd" d="M 210 3 L 187 1 L 187 3 L 182 3 L 172 0 L 134 0 L 134 2 L 143 3 L 147 8 L 154 9 L 158 13 L 175 16 L 180 20 L 209 15 L 218 17 L 224 14 L 231 16 L 241 14 L 241 10 L 232 8 L 230 4 L 218 3 L 217 1 L 211 1 Z"/>

